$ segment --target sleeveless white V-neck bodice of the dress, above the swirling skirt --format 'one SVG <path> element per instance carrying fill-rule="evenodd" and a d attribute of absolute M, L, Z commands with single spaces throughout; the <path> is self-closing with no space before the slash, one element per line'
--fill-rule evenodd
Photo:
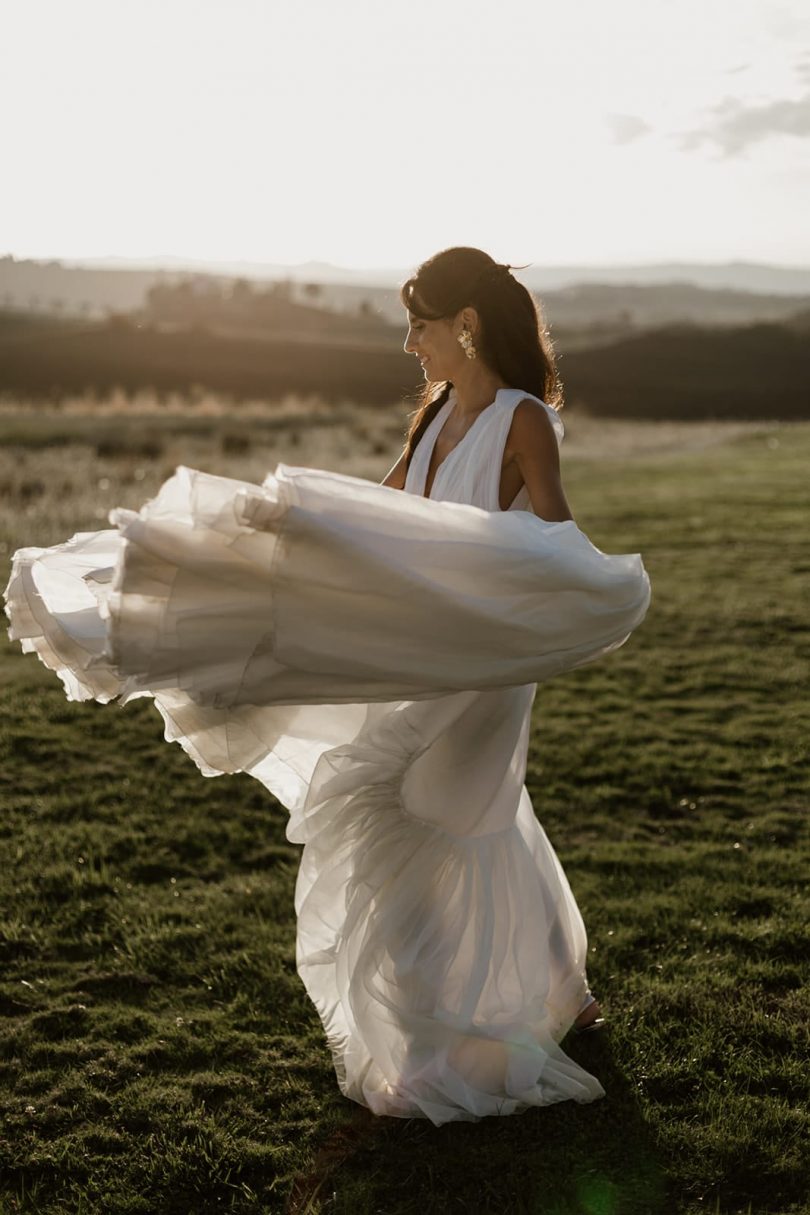
<path fill-rule="evenodd" d="M 464 437 L 436 469 L 427 497 L 442 502 L 466 502 L 470 505 L 481 507 L 483 510 L 500 510 L 500 473 L 506 436 L 517 402 L 527 396 L 545 407 L 551 418 L 557 443 L 562 442 L 565 426 L 556 409 L 525 389 L 498 389 L 492 405 L 481 411 Z M 417 443 L 404 484 L 407 493 L 424 496 L 430 457 L 455 401 L 455 389 L 452 388 L 447 401 Z M 532 512 L 528 490 L 525 485 L 521 486 L 508 509 Z"/>

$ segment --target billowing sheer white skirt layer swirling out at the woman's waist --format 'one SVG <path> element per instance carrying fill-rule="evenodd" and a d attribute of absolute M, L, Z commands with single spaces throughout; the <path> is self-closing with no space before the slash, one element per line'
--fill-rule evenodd
<path fill-rule="evenodd" d="M 73 697 L 189 688 L 231 707 L 509 686 L 617 649 L 648 600 L 640 556 L 600 552 L 572 520 L 317 469 L 279 464 L 259 488 L 180 467 L 111 520 L 18 550 L 6 592 L 12 635 Z"/>

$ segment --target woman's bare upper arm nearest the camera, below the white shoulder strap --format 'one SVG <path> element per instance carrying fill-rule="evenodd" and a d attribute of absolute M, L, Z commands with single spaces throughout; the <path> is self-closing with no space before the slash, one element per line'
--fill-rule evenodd
<path fill-rule="evenodd" d="M 532 510 L 548 522 L 573 519 L 560 476 L 560 448 L 545 406 L 525 397 L 515 407 L 504 448 L 528 490 Z"/>

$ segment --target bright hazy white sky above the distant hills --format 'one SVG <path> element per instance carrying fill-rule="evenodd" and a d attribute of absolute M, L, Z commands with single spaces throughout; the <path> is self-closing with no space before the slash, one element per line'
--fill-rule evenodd
<path fill-rule="evenodd" d="M 806 0 L 0 17 L 0 254 L 810 264 Z"/>

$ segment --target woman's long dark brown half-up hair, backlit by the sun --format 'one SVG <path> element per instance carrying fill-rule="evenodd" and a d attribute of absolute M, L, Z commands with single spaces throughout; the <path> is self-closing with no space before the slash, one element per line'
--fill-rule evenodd
<path fill-rule="evenodd" d="M 474 307 L 481 322 L 475 344 L 483 361 L 510 386 L 561 409 L 562 384 L 542 309 L 510 269 L 481 249 L 454 245 L 423 261 L 400 288 L 400 299 L 423 321 Z M 406 467 L 452 388 L 451 380 L 438 380 L 420 390 L 406 436 Z"/>

